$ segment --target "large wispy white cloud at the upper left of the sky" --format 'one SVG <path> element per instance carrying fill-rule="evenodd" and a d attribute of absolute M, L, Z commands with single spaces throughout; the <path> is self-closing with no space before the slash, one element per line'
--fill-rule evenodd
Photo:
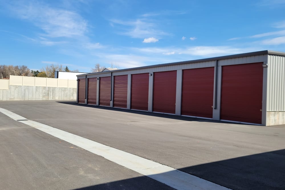
<path fill-rule="evenodd" d="M 87 21 L 73 11 L 52 8 L 38 2 L 16 1 L 7 7 L 16 17 L 40 27 L 45 32 L 42 35 L 48 37 L 83 36 L 87 32 Z"/>

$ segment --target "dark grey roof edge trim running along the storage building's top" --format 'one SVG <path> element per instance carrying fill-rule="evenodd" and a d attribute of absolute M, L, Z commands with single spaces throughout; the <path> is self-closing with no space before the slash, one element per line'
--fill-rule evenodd
<path fill-rule="evenodd" d="M 258 51 L 258 52 L 235 54 L 235 55 L 229 55 L 229 56 L 219 56 L 219 57 L 205 58 L 205 59 L 198 59 L 198 60 L 191 60 L 191 61 L 164 63 L 164 64 L 149 65 L 149 66 L 143 66 L 143 67 L 119 69 L 119 70 L 114 70 L 114 71 L 104 71 L 104 73 L 108 73 L 108 72 L 111 73 L 111 72 L 118 72 L 118 71 L 128 71 L 128 70 L 137 70 L 137 69 L 147 69 L 147 68 L 172 66 L 172 65 L 180 65 L 180 64 L 189 64 L 189 63 L 199 63 L 199 62 L 216 61 L 216 60 L 224 60 L 224 59 L 233 59 L 233 58 L 248 57 L 248 56 L 266 55 L 266 54 L 285 56 L 285 52 L 264 50 L 264 51 Z M 102 72 L 97 72 L 96 74 L 98 74 L 98 73 L 102 73 Z M 76 75 L 76 76 L 92 75 L 92 74 L 94 74 L 94 73 L 88 73 L 88 74 L 82 74 L 82 75 Z"/>

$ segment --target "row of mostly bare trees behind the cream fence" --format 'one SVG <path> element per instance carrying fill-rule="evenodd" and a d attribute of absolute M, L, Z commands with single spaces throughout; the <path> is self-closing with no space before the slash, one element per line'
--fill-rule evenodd
<path fill-rule="evenodd" d="M 45 67 L 42 67 L 40 71 L 30 70 L 25 65 L 22 65 L 22 66 L 0 65 L 0 79 L 9 78 L 10 75 L 54 78 L 55 71 L 79 72 L 78 69 L 69 70 L 67 66 L 63 67 L 62 65 L 58 65 L 58 64 L 47 65 Z"/>

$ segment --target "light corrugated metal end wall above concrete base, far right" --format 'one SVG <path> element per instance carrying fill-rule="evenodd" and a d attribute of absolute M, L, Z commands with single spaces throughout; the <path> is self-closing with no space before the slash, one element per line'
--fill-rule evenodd
<path fill-rule="evenodd" d="M 285 57 L 268 55 L 267 111 L 285 111 Z"/>

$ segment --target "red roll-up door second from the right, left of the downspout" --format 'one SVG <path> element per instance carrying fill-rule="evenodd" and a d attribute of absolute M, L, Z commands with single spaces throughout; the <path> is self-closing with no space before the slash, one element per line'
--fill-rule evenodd
<path fill-rule="evenodd" d="M 181 115 L 213 118 L 214 67 L 183 70 Z"/>

